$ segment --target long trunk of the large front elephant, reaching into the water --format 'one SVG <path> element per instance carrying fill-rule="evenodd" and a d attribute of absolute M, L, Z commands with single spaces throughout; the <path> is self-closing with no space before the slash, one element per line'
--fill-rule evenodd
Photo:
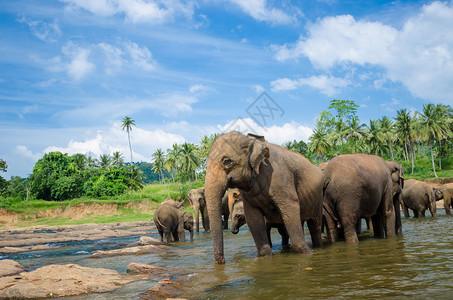
<path fill-rule="evenodd" d="M 214 259 L 217 264 L 225 263 L 222 231 L 222 198 L 227 189 L 225 175 L 218 176 L 217 170 L 208 164 L 205 179 L 206 205 L 211 223 Z M 223 179 L 222 179 L 223 178 Z"/>

